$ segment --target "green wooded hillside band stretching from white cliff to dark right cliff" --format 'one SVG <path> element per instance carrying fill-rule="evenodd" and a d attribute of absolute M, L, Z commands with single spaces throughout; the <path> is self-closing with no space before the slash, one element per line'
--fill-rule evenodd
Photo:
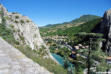
<path fill-rule="evenodd" d="M 78 32 L 92 32 L 93 29 L 95 29 L 97 27 L 97 25 L 100 23 L 101 20 L 102 20 L 101 18 L 97 18 L 92 21 L 78 25 L 78 26 L 72 26 L 72 27 L 66 28 L 66 29 L 57 29 L 55 32 L 53 32 L 53 31 L 49 32 L 50 29 L 48 29 L 48 28 L 41 29 L 40 31 L 41 31 L 41 35 L 44 37 L 45 36 L 55 36 L 55 35 L 72 36 L 72 35 L 74 35 L 74 33 L 78 33 Z M 48 30 L 48 32 L 45 30 Z"/>

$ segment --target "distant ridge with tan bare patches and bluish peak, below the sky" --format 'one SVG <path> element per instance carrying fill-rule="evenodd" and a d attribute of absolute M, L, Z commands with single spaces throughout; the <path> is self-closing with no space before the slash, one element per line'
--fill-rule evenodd
<path fill-rule="evenodd" d="M 44 27 L 40 27 L 40 33 L 43 36 L 43 34 L 46 34 L 46 33 L 56 32 L 57 30 L 65 30 L 67 28 L 79 26 L 85 22 L 92 21 L 97 18 L 100 18 L 100 17 L 96 16 L 96 15 L 83 15 L 80 18 L 77 18 L 70 22 L 64 22 L 64 23 L 60 23 L 60 24 L 50 24 L 50 25 L 46 25 Z"/>

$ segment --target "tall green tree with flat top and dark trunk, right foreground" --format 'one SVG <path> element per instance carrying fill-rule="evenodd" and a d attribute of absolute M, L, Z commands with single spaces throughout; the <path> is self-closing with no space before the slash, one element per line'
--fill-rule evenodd
<path fill-rule="evenodd" d="M 100 68 L 99 65 L 100 64 L 107 64 L 105 61 L 105 57 L 107 56 L 100 48 L 99 43 L 104 40 L 102 39 L 102 34 L 98 34 L 98 33 L 78 33 L 78 36 L 85 36 L 87 38 L 89 38 L 89 49 L 83 50 L 83 51 L 78 51 L 79 54 L 81 54 L 81 52 L 83 53 L 83 56 L 86 56 L 86 66 L 87 66 L 87 70 L 88 70 L 88 74 L 91 73 L 90 68 L 91 67 L 98 67 L 98 69 Z M 81 56 L 80 56 L 81 57 Z M 82 62 L 84 62 L 85 60 L 80 60 Z M 96 65 L 95 65 L 96 63 Z M 97 64 L 98 63 L 98 64 Z M 101 66 L 101 65 L 100 65 Z M 107 66 L 105 66 L 107 67 Z"/>

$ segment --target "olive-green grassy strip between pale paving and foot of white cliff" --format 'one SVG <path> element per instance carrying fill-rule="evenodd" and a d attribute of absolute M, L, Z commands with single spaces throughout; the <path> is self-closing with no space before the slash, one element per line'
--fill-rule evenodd
<path fill-rule="evenodd" d="M 24 53 L 27 57 L 31 58 L 33 61 L 37 62 L 41 66 L 45 67 L 48 71 L 54 74 L 67 74 L 67 70 L 65 70 L 61 65 L 55 63 L 50 58 L 43 58 L 36 51 L 31 50 L 30 48 L 24 46 L 16 46 L 22 53 Z"/>

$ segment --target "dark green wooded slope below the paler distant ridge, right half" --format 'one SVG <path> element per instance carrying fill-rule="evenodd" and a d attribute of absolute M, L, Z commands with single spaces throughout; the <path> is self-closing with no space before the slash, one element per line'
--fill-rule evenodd
<path fill-rule="evenodd" d="M 79 32 L 87 32 L 90 33 L 93 31 L 93 29 L 96 28 L 96 26 L 100 23 L 101 19 L 94 19 L 92 21 L 86 22 L 84 24 L 81 24 L 79 26 L 74 26 L 67 28 L 65 30 L 57 30 L 57 35 L 65 35 L 65 36 L 73 36 L 75 33 Z"/>

